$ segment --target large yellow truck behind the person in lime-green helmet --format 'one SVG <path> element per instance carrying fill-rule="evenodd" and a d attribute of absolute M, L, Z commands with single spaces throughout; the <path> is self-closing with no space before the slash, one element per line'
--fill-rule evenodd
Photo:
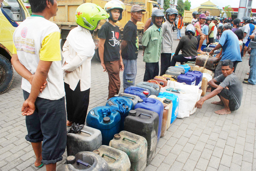
<path fill-rule="evenodd" d="M 83 3 L 94 3 L 99 5 L 104 9 L 105 4 L 110 0 L 57 0 L 58 3 L 58 12 L 57 16 L 50 19 L 53 23 L 56 23 L 61 31 L 61 47 L 63 46 L 68 33 L 73 28 L 77 27 L 75 22 L 75 11 L 76 8 Z M 137 23 L 137 29 L 139 34 L 139 42 L 142 40 L 144 25 L 148 18 L 151 17 L 152 9 L 154 7 L 158 7 L 160 9 L 160 5 L 151 0 L 121 0 L 125 4 L 125 10 L 123 12 L 123 19 L 118 21 L 116 25 L 119 27 L 121 31 L 121 35 L 123 35 L 123 29 L 125 24 L 131 19 L 131 7 L 134 4 L 139 4 L 142 9 L 145 9 L 146 12 L 143 12 L 142 21 Z M 104 23 L 100 23 L 98 29 L 101 28 L 101 25 Z M 98 56 L 98 30 L 94 32 L 93 39 L 96 45 L 96 53 L 95 57 L 99 60 Z"/>

